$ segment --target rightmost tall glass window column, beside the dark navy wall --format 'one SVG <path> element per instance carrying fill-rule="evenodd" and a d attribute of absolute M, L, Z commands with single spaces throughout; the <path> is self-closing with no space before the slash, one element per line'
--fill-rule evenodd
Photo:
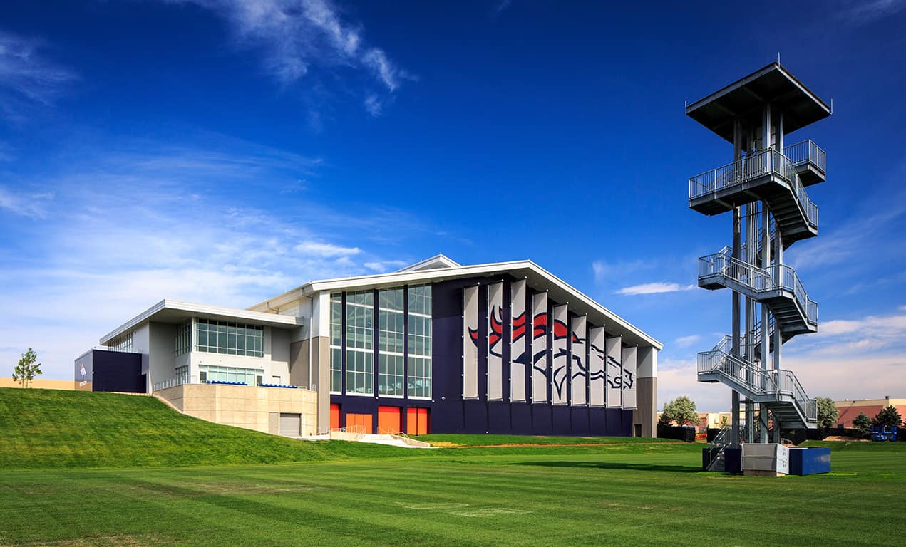
<path fill-rule="evenodd" d="M 409 396 L 431 397 L 431 286 L 409 288 Z"/>

